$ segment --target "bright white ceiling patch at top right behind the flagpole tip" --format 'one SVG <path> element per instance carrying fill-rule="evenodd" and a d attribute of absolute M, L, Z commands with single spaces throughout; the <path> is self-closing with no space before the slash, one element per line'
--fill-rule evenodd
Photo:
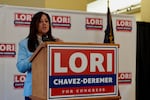
<path fill-rule="evenodd" d="M 109 0 L 111 12 L 120 11 L 129 7 L 140 5 L 141 0 Z M 87 12 L 107 12 L 108 0 L 94 0 L 88 3 Z"/>

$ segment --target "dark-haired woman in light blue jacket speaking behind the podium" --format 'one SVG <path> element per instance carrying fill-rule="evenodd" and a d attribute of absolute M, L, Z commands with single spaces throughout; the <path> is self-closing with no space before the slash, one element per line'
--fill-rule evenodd
<path fill-rule="evenodd" d="M 16 66 L 19 72 L 26 73 L 24 82 L 25 100 L 31 100 L 32 96 L 32 63 L 29 59 L 36 48 L 44 41 L 62 42 L 61 39 L 52 36 L 50 16 L 45 12 L 37 12 L 32 17 L 29 35 L 18 43 Z"/>

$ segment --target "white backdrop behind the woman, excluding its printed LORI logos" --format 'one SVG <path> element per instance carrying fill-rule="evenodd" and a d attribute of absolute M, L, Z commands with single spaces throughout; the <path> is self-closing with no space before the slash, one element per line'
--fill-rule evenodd
<path fill-rule="evenodd" d="M 45 11 L 50 16 L 70 16 L 71 28 L 53 28 L 52 33 L 55 37 L 61 38 L 66 42 L 93 42 L 103 43 L 104 30 L 107 24 L 106 14 L 87 13 L 79 11 L 66 11 L 45 8 L 30 8 L 0 5 L 0 43 L 15 43 L 16 54 L 18 52 L 18 42 L 25 38 L 29 33 L 29 27 L 15 26 L 14 13 L 36 13 Z M 103 19 L 102 30 L 86 30 L 85 18 Z M 136 21 L 134 16 L 112 15 L 115 43 L 119 48 L 119 72 L 131 72 L 131 84 L 119 84 L 121 100 L 135 100 L 135 66 L 136 66 Z M 131 32 L 118 32 L 115 29 L 116 20 L 131 20 Z M 14 75 L 19 73 L 16 68 L 17 55 L 14 58 L 0 57 L 0 100 L 24 100 L 23 89 L 15 89 L 13 86 Z"/>

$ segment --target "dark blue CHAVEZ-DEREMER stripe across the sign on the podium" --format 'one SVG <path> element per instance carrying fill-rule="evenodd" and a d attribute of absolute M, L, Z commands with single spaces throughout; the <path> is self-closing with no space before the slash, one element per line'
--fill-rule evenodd
<path fill-rule="evenodd" d="M 116 75 L 72 75 L 49 76 L 49 88 L 112 86 L 116 85 Z"/>

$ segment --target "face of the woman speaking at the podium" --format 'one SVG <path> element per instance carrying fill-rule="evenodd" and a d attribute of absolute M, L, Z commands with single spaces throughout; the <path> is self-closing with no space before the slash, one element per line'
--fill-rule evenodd
<path fill-rule="evenodd" d="M 42 36 L 49 31 L 49 20 L 46 15 L 42 15 L 38 25 L 38 35 Z"/>

